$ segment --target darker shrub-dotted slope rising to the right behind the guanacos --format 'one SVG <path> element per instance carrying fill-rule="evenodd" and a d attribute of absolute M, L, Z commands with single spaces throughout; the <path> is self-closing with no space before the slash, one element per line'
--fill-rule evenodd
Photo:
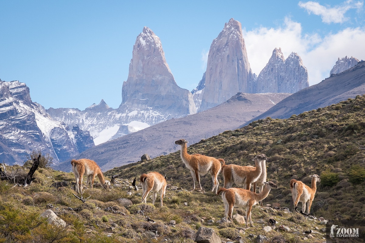
<path fill-rule="evenodd" d="M 356 99 L 304 112 L 289 119 L 254 121 L 243 128 L 225 131 L 193 144 L 188 147 L 188 153 L 223 158 L 226 164 L 242 166 L 253 165 L 251 160 L 255 155 L 266 154 L 267 180 L 273 181 L 279 188 L 270 192 L 263 201 L 264 205 L 280 203 L 281 207 L 292 211 L 290 180 L 297 179 L 310 185 L 309 176 L 317 174 L 321 182 L 317 183 L 311 207 L 316 217 L 329 220 L 363 219 L 364 112 L 365 95 L 359 95 Z M 169 140 L 174 142 L 175 138 Z M 174 185 L 191 190 L 191 174 L 181 161 L 180 146 L 174 149 L 176 152 L 166 156 L 114 168 L 104 175 L 134 178 L 141 173 L 157 171 L 166 174 Z M 222 174 L 218 179 L 221 187 Z M 212 188 L 209 174 L 201 177 L 201 185 L 207 192 Z"/>

